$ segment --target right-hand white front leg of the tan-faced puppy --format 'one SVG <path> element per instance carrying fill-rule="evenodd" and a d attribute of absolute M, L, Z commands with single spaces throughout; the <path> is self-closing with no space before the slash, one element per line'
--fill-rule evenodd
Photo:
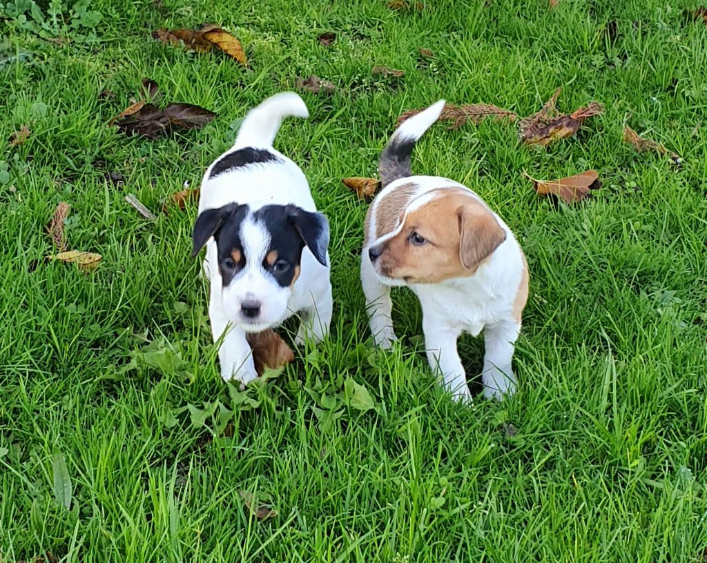
<path fill-rule="evenodd" d="M 515 374 L 511 367 L 515 340 L 518 340 L 520 324 L 514 320 L 500 321 L 484 328 L 484 397 L 501 401 L 504 396 L 515 393 Z"/>

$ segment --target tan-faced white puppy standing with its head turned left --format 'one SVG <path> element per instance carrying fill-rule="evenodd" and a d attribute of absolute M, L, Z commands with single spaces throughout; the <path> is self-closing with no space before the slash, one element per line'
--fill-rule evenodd
<path fill-rule="evenodd" d="M 455 398 L 470 399 L 457 353 L 463 331 L 484 330 L 484 396 L 515 392 L 510 362 L 528 295 L 528 270 L 513 233 L 477 194 L 453 180 L 413 176 L 416 141 L 444 100 L 407 119 L 380 155 L 382 191 L 366 215 L 361 282 L 375 343 L 396 340 L 390 288 L 420 300 L 428 362 Z"/>

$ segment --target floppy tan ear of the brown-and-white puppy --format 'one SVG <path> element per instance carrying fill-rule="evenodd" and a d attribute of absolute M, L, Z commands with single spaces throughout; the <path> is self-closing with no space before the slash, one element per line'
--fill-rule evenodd
<path fill-rule="evenodd" d="M 459 258 L 467 270 L 479 263 L 506 240 L 506 231 L 488 209 L 480 203 L 457 208 L 459 219 Z"/>

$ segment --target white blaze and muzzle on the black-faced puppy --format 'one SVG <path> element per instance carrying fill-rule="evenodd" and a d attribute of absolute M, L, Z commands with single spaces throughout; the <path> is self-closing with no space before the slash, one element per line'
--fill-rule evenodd
<path fill-rule="evenodd" d="M 270 234 L 252 215 L 243 220 L 240 243 L 245 255 L 245 267 L 223 288 L 223 309 L 228 319 L 247 332 L 259 332 L 279 324 L 288 316 L 291 288 L 283 288 L 265 270 L 263 263 L 271 244 Z M 244 314 L 244 307 L 259 305 L 253 316 Z"/>

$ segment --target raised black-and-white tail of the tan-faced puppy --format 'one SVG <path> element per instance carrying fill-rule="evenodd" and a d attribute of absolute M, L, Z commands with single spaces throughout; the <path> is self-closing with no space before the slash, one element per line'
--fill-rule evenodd
<path fill-rule="evenodd" d="M 380 182 L 387 186 L 393 180 L 412 175 L 410 155 L 417 140 L 423 136 L 434 122 L 439 119 L 444 109 L 445 100 L 439 100 L 419 114 L 406 119 L 390 137 L 387 146 L 380 153 L 378 171 Z"/>

